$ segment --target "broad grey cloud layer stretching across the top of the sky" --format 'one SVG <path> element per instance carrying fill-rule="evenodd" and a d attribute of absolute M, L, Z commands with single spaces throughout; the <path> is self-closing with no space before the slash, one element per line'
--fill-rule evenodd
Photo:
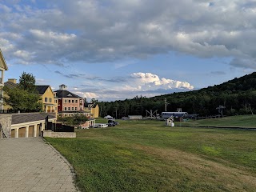
<path fill-rule="evenodd" d="M 231 57 L 232 66 L 256 68 L 254 0 L 32 2 L 0 2 L 6 58 L 62 65 L 176 51 Z"/>

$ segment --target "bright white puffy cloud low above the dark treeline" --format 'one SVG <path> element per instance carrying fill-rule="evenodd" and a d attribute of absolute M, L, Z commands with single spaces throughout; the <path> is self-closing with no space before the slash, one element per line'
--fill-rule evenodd
<path fill-rule="evenodd" d="M 110 81 L 104 81 L 99 86 L 90 86 L 88 82 L 85 82 L 81 86 L 82 88 L 74 91 L 89 99 L 97 98 L 104 101 L 114 101 L 134 98 L 136 95 L 153 97 L 159 94 L 171 94 L 194 89 L 194 86 L 190 85 L 189 82 L 159 78 L 157 74 L 151 73 L 138 72 L 123 78 L 126 81 L 119 82 L 118 85 Z"/>

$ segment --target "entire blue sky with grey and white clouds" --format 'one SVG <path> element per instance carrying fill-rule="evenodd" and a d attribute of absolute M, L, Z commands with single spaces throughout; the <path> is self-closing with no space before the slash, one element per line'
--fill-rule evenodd
<path fill-rule="evenodd" d="M 255 0 L 0 0 L 8 78 L 98 101 L 198 90 L 256 69 Z"/>

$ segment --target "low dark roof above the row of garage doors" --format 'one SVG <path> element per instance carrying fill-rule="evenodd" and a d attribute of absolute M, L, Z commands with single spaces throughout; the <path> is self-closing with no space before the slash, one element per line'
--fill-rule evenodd
<path fill-rule="evenodd" d="M 55 118 L 53 114 L 46 113 L 12 114 L 11 124 L 14 125 L 24 122 L 36 122 L 45 120 L 47 116 L 49 119 Z"/>

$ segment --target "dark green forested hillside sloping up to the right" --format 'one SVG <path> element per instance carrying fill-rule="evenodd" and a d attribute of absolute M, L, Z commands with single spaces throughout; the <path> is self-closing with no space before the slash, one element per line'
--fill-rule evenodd
<path fill-rule="evenodd" d="M 165 94 L 153 98 L 138 97 L 115 102 L 99 102 L 100 114 L 104 117 L 110 114 L 122 118 L 128 114 L 146 115 L 146 110 L 158 110 L 160 114 L 165 109 L 176 111 L 182 108 L 189 114 L 200 116 L 218 114 L 216 107 L 226 106 L 223 114 L 256 114 L 256 72 L 242 78 L 234 78 L 220 85 L 209 86 L 201 90 Z"/>

